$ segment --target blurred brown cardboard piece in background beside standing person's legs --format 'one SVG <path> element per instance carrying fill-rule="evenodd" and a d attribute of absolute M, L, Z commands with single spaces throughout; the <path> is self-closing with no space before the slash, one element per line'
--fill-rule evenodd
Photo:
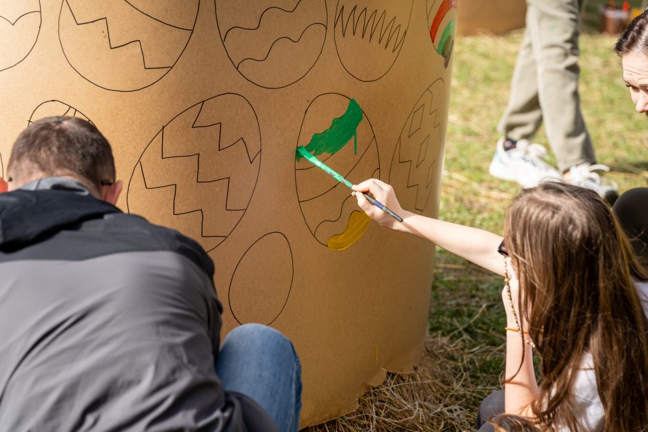
<path fill-rule="evenodd" d="M 461 0 L 457 34 L 503 34 L 525 26 L 525 0 Z"/>

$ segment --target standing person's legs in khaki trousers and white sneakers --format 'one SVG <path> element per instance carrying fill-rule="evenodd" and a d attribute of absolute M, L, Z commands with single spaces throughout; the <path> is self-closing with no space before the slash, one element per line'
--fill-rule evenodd
<path fill-rule="evenodd" d="M 618 188 L 598 174 L 609 168 L 596 163 L 580 112 L 578 24 L 584 1 L 527 0 L 524 39 L 489 172 L 523 187 L 562 179 L 614 203 Z M 545 162 L 543 145 L 531 143 L 543 123 L 558 169 Z"/>

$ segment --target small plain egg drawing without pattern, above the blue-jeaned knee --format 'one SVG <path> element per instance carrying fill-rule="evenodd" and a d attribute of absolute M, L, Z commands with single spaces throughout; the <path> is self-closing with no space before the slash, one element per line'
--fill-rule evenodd
<path fill-rule="evenodd" d="M 285 309 L 293 278 L 292 248 L 285 234 L 271 232 L 256 240 L 236 264 L 227 291 L 234 319 L 271 325 Z"/>

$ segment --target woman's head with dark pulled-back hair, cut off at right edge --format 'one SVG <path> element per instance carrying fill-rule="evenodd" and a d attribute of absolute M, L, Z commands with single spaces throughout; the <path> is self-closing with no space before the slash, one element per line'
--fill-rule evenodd
<path fill-rule="evenodd" d="M 648 11 L 629 23 L 614 51 L 621 57 L 623 81 L 637 112 L 648 115 Z"/>

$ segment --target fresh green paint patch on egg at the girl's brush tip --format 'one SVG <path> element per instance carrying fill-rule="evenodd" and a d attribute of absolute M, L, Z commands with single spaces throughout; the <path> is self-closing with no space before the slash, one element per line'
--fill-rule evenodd
<path fill-rule="evenodd" d="M 358 154 L 358 125 L 362 121 L 362 109 L 360 105 L 351 99 L 349 106 L 342 116 L 333 119 L 330 127 L 321 134 L 313 134 L 310 143 L 305 149 L 318 156 L 328 153 L 334 154 L 346 145 L 353 137 L 353 152 Z M 295 153 L 295 160 L 301 159 L 301 154 Z"/>

